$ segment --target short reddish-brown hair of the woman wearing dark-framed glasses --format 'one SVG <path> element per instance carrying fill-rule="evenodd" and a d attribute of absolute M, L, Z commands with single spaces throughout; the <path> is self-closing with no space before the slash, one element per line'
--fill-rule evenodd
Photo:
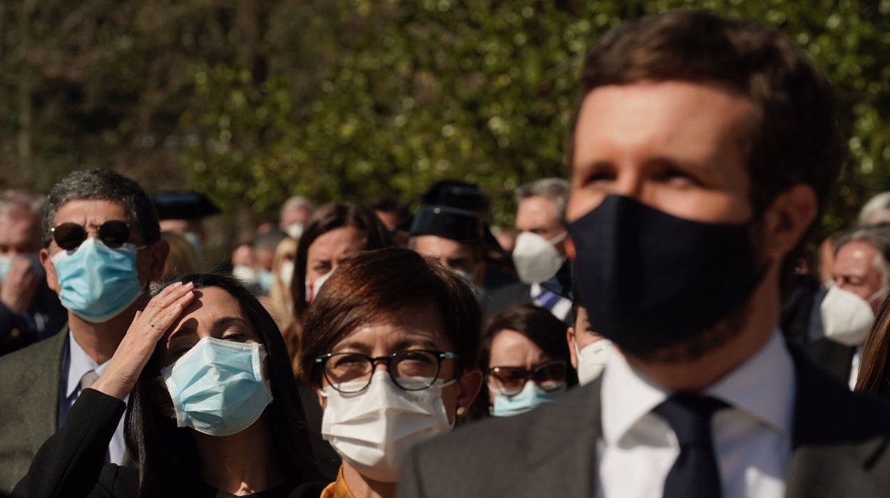
<path fill-rule="evenodd" d="M 479 356 L 481 311 L 470 284 L 438 261 L 411 249 L 368 251 L 339 265 L 312 301 L 303 319 L 300 370 L 321 385 L 315 358 L 362 325 L 386 319 L 407 306 L 438 308 L 445 339 L 462 370 Z"/>

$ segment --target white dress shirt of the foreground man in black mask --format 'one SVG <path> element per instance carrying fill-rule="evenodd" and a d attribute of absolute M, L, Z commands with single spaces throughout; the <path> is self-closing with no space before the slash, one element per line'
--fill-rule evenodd
<path fill-rule="evenodd" d="M 788 349 L 774 331 L 755 355 L 705 389 L 731 406 L 711 420 L 724 498 L 784 495 L 795 377 Z M 668 395 L 623 355 L 610 355 L 603 371 L 597 496 L 662 496 L 680 446 L 667 422 L 651 410 Z"/>

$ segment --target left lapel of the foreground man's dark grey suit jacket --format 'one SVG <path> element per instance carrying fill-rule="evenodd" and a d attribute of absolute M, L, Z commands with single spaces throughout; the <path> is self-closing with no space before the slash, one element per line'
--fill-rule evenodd
<path fill-rule="evenodd" d="M 593 495 L 596 442 L 603 432 L 600 390 L 597 379 L 538 409 L 538 420 L 529 424 L 528 447 L 523 452 L 523 496 Z"/>

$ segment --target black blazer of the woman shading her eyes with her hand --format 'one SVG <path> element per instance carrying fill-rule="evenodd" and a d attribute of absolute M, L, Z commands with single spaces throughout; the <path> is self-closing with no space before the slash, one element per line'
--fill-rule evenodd
<path fill-rule="evenodd" d="M 28 474 L 12 490 L 12 496 L 28 498 L 65 496 L 117 498 L 135 496 L 139 485 L 136 469 L 114 463 L 103 465 L 105 452 L 126 405 L 95 389 L 84 389 L 71 407 L 68 419 L 40 447 Z M 171 486 L 186 496 L 216 496 L 217 491 L 198 476 L 187 482 L 171 477 Z M 318 498 L 325 482 L 303 483 L 293 489 L 251 496 Z M 219 493 L 223 496 L 228 494 Z"/>

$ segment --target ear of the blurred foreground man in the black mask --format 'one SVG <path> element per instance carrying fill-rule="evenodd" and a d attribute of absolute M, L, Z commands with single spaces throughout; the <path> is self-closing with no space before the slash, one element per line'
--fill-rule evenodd
<path fill-rule="evenodd" d="M 804 238 L 819 210 L 813 187 L 796 184 L 781 192 L 764 215 L 764 251 L 781 261 Z"/>

